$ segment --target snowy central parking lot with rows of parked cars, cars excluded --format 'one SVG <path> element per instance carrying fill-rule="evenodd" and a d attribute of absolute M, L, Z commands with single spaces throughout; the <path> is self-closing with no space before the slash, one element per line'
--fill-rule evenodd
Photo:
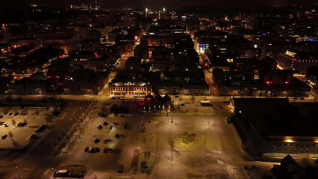
<path fill-rule="evenodd" d="M 98 118 L 96 110 L 92 114 L 93 122 L 89 124 L 86 132 L 83 134 L 75 148 L 72 150 L 70 156 L 63 160 L 59 166 L 63 165 L 85 165 L 86 168 L 93 169 L 98 172 L 114 172 L 116 173 L 119 165 L 124 166 L 123 173 L 128 172 L 131 161 L 136 149 L 136 139 L 139 133 L 141 117 L 138 115 L 124 115 L 122 117 L 115 116 L 114 118 Z M 104 126 L 103 123 L 108 125 Z M 115 122 L 116 125 L 110 130 L 109 126 Z M 124 123 L 128 122 L 127 130 L 124 130 Z M 98 129 L 98 125 L 102 125 Z M 116 139 L 115 134 L 122 135 L 122 138 Z M 94 143 L 94 139 L 99 138 L 99 143 Z M 104 144 L 104 139 L 110 139 L 109 143 Z M 98 147 L 100 149 L 97 153 L 85 152 L 85 147 Z M 103 153 L 103 148 L 116 148 L 118 152 Z M 98 165 L 96 165 L 98 163 Z"/>

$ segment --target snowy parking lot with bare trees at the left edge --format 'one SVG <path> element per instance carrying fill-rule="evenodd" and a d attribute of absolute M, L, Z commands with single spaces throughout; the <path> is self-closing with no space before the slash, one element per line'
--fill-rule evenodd
<path fill-rule="evenodd" d="M 0 140 L 0 148 L 23 148 L 27 143 L 26 141 L 34 134 L 34 131 L 42 125 L 46 124 L 45 115 L 52 112 L 52 107 L 49 110 L 39 107 L 1 107 L 0 113 L 4 113 L 0 121 L 5 122 L 6 125 L 0 125 L 0 135 L 7 134 L 5 139 Z M 37 112 L 38 111 L 38 112 Z M 12 113 L 10 116 L 7 114 Z M 24 116 L 16 113 L 26 113 Z M 15 121 L 15 126 L 13 122 Z M 5 124 L 4 123 L 4 124 Z M 24 123 L 23 126 L 18 126 L 19 123 Z M 12 133 L 12 139 L 9 135 Z"/>

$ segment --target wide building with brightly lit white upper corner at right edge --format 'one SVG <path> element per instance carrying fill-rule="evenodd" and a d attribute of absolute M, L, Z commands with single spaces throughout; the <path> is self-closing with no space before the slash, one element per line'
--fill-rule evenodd
<path fill-rule="evenodd" d="M 318 56 L 314 52 L 306 53 L 286 50 L 286 53 L 278 55 L 277 62 L 287 69 L 306 71 L 309 67 L 318 66 L 317 59 Z"/>

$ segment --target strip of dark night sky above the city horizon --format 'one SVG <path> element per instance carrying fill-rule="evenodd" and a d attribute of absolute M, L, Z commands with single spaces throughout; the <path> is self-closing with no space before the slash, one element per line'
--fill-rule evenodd
<path fill-rule="evenodd" d="M 314 4 L 313 0 L 297 1 L 297 0 L 97 0 L 97 2 L 103 3 L 105 6 L 135 6 L 135 7 L 147 7 L 161 9 L 161 7 L 183 7 L 183 6 L 250 6 L 250 5 L 267 5 L 267 6 L 281 6 L 285 4 L 309 5 Z M 54 7 L 66 6 L 70 4 L 95 4 L 95 0 L 5 0 L 3 3 L 7 5 L 12 4 L 47 4 Z M 300 4 L 301 3 L 301 4 Z"/>

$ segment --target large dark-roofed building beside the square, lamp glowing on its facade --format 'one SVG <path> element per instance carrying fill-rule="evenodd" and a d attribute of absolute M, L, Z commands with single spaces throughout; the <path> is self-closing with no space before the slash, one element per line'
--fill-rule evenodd
<path fill-rule="evenodd" d="M 253 146 L 249 152 L 259 157 L 318 157 L 315 132 L 315 103 L 289 103 L 287 98 L 232 98 L 235 112 L 233 125 L 243 145 Z M 307 112 L 302 112 L 307 111 Z M 306 129 L 299 130 L 300 128 Z"/>

